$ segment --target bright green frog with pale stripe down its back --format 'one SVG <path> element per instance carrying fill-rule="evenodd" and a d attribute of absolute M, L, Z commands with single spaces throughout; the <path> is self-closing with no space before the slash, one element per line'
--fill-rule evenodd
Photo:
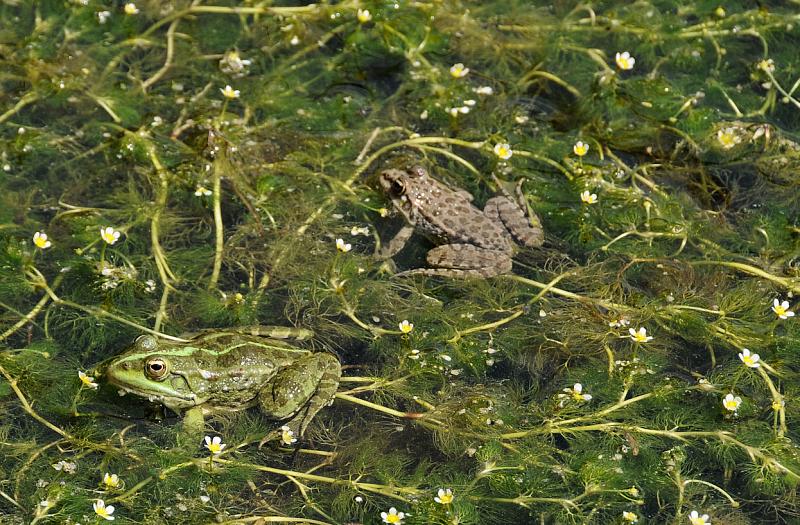
<path fill-rule="evenodd" d="M 204 416 L 258 405 L 302 436 L 332 402 L 341 367 L 330 354 L 296 348 L 292 329 L 250 327 L 208 330 L 186 342 L 141 335 L 106 369 L 108 382 L 180 413 L 184 433 L 199 434 Z M 300 332 L 300 338 L 307 337 Z"/>

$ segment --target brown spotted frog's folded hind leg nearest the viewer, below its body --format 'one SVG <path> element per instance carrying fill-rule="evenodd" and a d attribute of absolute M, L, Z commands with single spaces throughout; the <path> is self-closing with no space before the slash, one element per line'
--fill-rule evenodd
<path fill-rule="evenodd" d="M 440 277 L 494 277 L 509 273 L 513 265 L 509 253 L 487 250 L 472 244 L 444 244 L 428 252 L 426 259 L 434 268 L 420 268 L 397 274 Z"/>

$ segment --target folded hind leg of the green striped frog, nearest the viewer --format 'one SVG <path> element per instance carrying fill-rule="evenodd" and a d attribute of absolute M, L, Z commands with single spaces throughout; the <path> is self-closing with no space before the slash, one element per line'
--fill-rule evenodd
<path fill-rule="evenodd" d="M 289 428 L 302 436 L 339 387 L 339 361 L 330 354 L 309 354 L 280 370 L 258 395 L 261 410 L 274 419 L 288 419 Z"/>

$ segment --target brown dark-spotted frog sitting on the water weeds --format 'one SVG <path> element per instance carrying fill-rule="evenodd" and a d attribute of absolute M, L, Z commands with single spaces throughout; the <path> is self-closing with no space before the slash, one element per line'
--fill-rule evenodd
<path fill-rule="evenodd" d="M 379 256 L 394 256 L 415 230 L 438 244 L 427 254 L 433 268 L 398 275 L 493 277 L 511 271 L 518 245 L 538 247 L 544 241 L 541 221 L 528 212 L 519 192 L 516 202 L 499 195 L 489 199 L 481 211 L 472 204 L 472 195 L 442 184 L 421 166 L 385 170 L 379 181 L 407 223 Z"/>

